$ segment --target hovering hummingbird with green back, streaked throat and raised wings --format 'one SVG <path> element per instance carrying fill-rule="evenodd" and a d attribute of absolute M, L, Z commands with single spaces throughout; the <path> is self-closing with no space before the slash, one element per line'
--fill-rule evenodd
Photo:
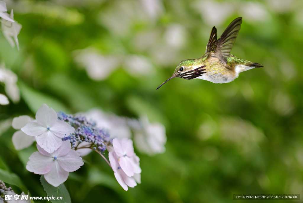
<path fill-rule="evenodd" d="M 187 80 L 199 78 L 212 83 L 229 83 L 245 70 L 263 67 L 260 63 L 239 59 L 230 54 L 239 34 L 241 23 L 242 17 L 233 20 L 219 39 L 217 39 L 217 29 L 214 26 L 211 29 L 205 54 L 198 59 L 181 61 L 177 65 L 174 74 L 158 86 L 157 90 L 168 80 L 175 77 Z"/>

